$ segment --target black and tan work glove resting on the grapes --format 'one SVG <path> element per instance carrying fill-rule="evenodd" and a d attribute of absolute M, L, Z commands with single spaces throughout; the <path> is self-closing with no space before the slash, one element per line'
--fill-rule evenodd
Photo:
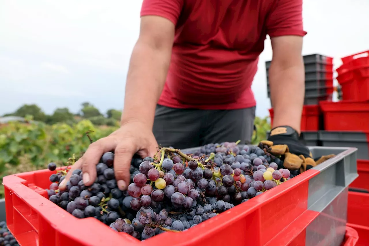
<path fill-rule="evenodd" d="M 274 156 L 281 156 L 283 167 L 299 170 L 300 173 L 315 167 L 334 155 L 313 159 L 309 149 L 299 141 L 299 134 L 289 126 L 275 127 L 270 131 L 268 140 L 260 142 L 268 146 L 267 151 Z"/>

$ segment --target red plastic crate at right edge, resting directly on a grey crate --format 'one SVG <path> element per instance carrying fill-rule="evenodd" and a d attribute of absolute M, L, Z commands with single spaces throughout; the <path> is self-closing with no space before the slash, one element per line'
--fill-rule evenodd
<path fill-rule="evenodd" d="M 328 131 L 369 131 L 369 102 L 319 102 Z"/>

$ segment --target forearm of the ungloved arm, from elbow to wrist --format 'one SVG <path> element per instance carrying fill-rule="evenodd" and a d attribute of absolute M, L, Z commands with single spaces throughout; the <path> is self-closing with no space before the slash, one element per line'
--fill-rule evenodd
<path fill-rule="evenodd" d="M 171 49 L 135 45 L 125 86 L 121 124 L 139 120 L 152 127 L 155 107 L 165 84 Z"/>

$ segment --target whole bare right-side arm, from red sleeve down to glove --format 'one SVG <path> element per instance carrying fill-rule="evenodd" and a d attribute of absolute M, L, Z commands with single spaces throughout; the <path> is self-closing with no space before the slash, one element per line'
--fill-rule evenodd
<path fill-rule="evenodd" d="M 273 126 L 291 126 L 300 133 L 304 104 L 305 77 L 301 56 L 303 38 L 271 38 L 273 58 L 269 68 L 270 99 L 274 109 Z"/>

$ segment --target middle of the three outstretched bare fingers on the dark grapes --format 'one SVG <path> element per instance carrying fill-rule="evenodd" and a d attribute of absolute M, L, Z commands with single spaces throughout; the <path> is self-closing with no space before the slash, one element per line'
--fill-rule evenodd
<path fill-rule="evenodd" d="M 113 137 L 104 137 L 90 144 L 82 159 L 82 180 L 86 186 L 92 185 L 96 179 L 96 165 L 105 152 L 114 150 L 116 141 Z"/>

